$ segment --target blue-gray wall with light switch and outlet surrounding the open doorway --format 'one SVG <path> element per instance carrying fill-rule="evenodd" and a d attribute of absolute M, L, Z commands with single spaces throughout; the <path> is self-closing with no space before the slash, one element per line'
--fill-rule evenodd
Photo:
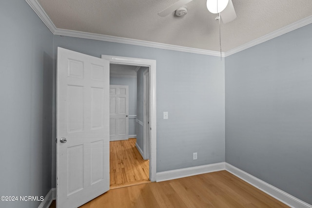
<path fill-rule="evenodd" d="M 220 57 L 60 36 L 54 36 L 54 57 L 58 46 L 95 57 L 156 60 L 157 172 L 224 162 L 224 60 Z M 168 120 L 163 120 L 164 111 L 169 112 Z M 193 160 L 193 152 L 198 152 L 198 160 Z"/>

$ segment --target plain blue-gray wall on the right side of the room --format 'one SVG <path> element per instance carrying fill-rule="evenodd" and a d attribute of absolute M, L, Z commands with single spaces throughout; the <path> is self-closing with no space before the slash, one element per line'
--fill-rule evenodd
<path fill-rule="evenodd" d="M 226 162 L 312 204 L 312 24 L 226 57 Z"/>

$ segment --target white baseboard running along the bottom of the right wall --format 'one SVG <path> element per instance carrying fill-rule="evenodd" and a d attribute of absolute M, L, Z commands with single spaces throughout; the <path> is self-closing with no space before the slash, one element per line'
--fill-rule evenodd
<path fill-rule="evenodd" d="M 257 189 L 262 190 L 263 192 L 269 194 L 270 196 L 274 197 L 278 201 L 292 207 L 292 208 L 312 208 L 312 205 L 309 205 L 306 202 L 297 199 L 296 197 L 273 187 L 272 185 L 254 177 L 253 175 L 240 170 L 229 163 L 225 163 L 225 170 L 231 172 L 233 175 L 236 175 L 240 179 L 246 181 L 250 185 L 254 186 Z"/>

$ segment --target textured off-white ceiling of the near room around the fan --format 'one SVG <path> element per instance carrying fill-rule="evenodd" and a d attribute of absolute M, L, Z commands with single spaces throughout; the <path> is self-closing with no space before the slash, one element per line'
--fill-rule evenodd
<path fill-rule="evenodd" d="M 188 14 L 161 18 L 157 13 L 177 0 L 38 0 L 55 26 L 219 51 L 219 25 L 206 0 L 187 4 Z M 237 18 L 221 21 L 226 52 L 300 19 L 312 16 L 312 0 L 232 0 Z"/>

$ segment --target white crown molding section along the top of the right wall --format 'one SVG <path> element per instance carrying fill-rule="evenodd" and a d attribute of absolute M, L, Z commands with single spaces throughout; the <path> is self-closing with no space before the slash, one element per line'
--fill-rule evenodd
<path fill-rule="evenodd" d="M 233 54 L 236 54 L 236 53 L 238 53 L 240 51 L 243 51 L 243 50 L 245 50 L 247 48 L 250 48 L 250 47 L 253 47 L 253 46 L 258 45 L 260 43 L 263 43 L 263 42 L 265 42 L 267 40 L 270 40 L 270 39 L 276 38 L 278 36 L 284 35 L 284 34 L 289 33 L 289 32 L 291 32 L 291 31 L 293 31 L 295 29 L 298 29 L 300 27 L 306 26 L 306 25 L 308 25 L 310 23 L 312 23 L 312 16 L 304 18 L 304 19 L 301 19 L 301 20 L 296 21 L 296 22 L 293 22 L 292 24 L 289 24 L 289 25 L 287 25 L 285 27 L 282 27 L 282 28 L 280 28 L 278 30 L 275 30 L 272 33 L 269 33 L 269 34 L 267 34 L 265 36 L 262 36 L 260 38 L 254 39 L 254 40 L 252 40 L 252 41 L 250 41 L 250 42 L 248 42 L 246 44 L 238 46 L 237 48 L 229 50 L 229 51 L 225 52 L 225 57 L 228 57 L 228 56 L 231 56 Z"/>

